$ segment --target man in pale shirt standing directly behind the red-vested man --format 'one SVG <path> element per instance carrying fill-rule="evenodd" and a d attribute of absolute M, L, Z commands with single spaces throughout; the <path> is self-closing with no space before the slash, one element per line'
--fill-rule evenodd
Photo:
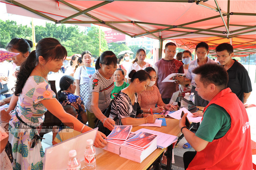
<path fill-rule="evenodd" d="M 205 42 L 201 42 L 196 46 L 196 55 L 197 59 L 193 60 L 188 65 L 188 73 L 187 78 L 190 80 L 192 89 L 191 93 L 195 94 L 195 105 L 205 107 L 209 103 L 208 101 L 202 99 L 195 90 L 195 74 L 193 74 L 193 70 L 203 64 L 206 63 L 215 63 L 215 61 L 211 60 L 207 55 L 209 54 L 209 45 Z M 216 64 L 216 63 L 215 63 Z"/>

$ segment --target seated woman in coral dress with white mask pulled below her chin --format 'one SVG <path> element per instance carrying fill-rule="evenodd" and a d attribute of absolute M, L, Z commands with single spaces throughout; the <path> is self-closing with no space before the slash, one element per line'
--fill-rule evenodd
<path fill-rule="evenodd" d="M 171 104 L 165 104 L 162 101 L 161 94 L 158 88 L 154 85 L 156 82 L 156 71 L 153 67 L 146 67 L 144 69 L 150 75 L 150 84 L 146 87 L 146 90 L 138 94 L 138 103 L 141 106 L 141 110 L 145 113 L 161 113 L 164 109 L 176 110 L 177 108 Z M 158 107 L 155 107 L 157 104 Z"/>

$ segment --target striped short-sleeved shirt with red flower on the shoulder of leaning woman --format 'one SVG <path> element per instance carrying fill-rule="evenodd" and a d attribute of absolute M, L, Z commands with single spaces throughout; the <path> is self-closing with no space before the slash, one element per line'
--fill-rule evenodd
<path fill-rule="evenodd" d="M 86 101 L 86 109 L 93 113 L 91 110 L 92 92 L 99 93 L 98 107 L 101 111 L 105 110 L 110 104 L 111 91 L 114 89 L 114 76 L 110 79 L 105 79 L 98 70 L 91 76 L 89 96 Z"/>

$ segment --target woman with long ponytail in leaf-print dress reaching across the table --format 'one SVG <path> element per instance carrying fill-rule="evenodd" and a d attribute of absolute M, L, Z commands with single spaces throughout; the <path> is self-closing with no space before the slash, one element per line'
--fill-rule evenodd
<path fill-rule="evenodd" d="M 12 144 L 13 169 L 42 169 L 44 152 L 38 128 L 44 121 L 44 113 L 49 110 L 62 122 L 70 122 L 74 130 L 81 133 L 91 130 L 71 114 L 65 112 L 51 90 L 47 75 L 58 72 L 67 50 L 54 38 L 43 38 L 37 43 L 27 60 L 17 73 L 15 97 L 17 106 L 11 113 L 9 141 Z M 12 101 L 11 101 L 12 102 Z M 24 128 L 25 127 L 25 128 Z M 94 145 L 103 148 L 106 136 L 97 133 Z"/>

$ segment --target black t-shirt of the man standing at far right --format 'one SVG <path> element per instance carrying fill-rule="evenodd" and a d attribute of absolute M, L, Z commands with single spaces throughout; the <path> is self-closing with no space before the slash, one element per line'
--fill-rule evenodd
<path fill-rule="evenodd" d="M 234 60 L 234 59 L 233 59 Z M 243 93 L 252 91 L 252 83 L 247 70 L 242 64 L 234 60 L 234 64 L 227 70 L 228 86 L 233 93 L 243 102 Z"/>

